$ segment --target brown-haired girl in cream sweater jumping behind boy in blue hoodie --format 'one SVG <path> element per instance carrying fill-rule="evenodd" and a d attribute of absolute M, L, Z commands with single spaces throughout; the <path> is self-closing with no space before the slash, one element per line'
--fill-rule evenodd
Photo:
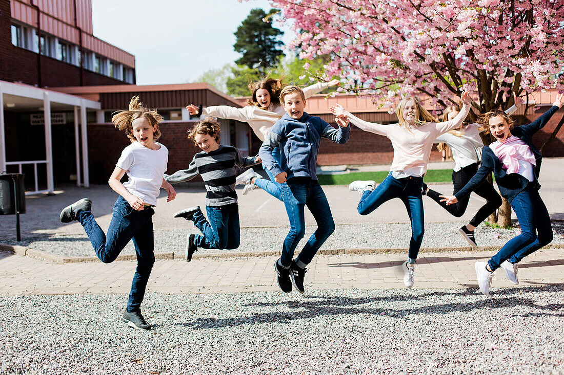
<path fill-rule="evenodd" d="M 337 86 L 338 79 L 333 79 L 329 82 L 319 82 L 303 88 L 303 93 L 307 98 L 315 95 L 316 93 L 324 90 L 325 88 Z M 253 129 L 255 135 L 264 141 L 270 128 L 274 123 L 281 119 L 284 115 L 284 108 L 280 105 L 280 92 L 286 85 L 282 83 L 281 79 L 267 78 L 260 82 L 249 84 L 249 90 L 253 93 L 252 97 L 247 100 L 246 106 L 243 108 L 235 108 L 227 105 L 214 105 L 202 109 L 203 115 L 213 116 L 224 119 L 237 120 L 246 122 Z M 199 108 L 193 104 L 186 106 L 191 115 L 199 114 Z M 280 161 L 280 149 L 275 148 L 272 155 L 276 160 Z M 246 195 L 250 190 L 260 187 L 268 194 L 282 200 L 282 191 L 280 184 L 274 181 L 274 176 L 271 176 L 270 171 L 265 169 L 270 181 L 262 178 L 253 171 L 252 168 L 248 169 L 241 175 L 237 176 L 236 184 L 245 184 L 243 195 Z"/>

